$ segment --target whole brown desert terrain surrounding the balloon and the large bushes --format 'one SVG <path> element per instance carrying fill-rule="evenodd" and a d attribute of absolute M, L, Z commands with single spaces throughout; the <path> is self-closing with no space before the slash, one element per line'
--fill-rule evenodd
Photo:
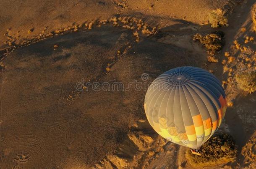
<path fill-rule="evenodd" d="M 228 25 L 211 27 L 214 10 Z M 0 25 L 0 169 L 200 168 L 144 113 L 149 84 L 180 66 L 214 73 L 227 95 L 217 132 L 238 153 L 207 168 L 256 168 L 256 93 L 235 80 L 256 70 L 254 0 L 2 0 Z M 216 31 L 209 61 L 193 36 Z"/>

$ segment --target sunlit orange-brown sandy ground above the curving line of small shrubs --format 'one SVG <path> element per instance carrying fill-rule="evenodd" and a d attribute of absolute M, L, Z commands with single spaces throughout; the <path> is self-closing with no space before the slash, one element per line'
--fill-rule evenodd
<path fill-rule="evenodd" d="M 140 16 L 147 23 L 154 22 L 152 24 L 162 27 L 175 20 L 202 24 L 207 22 L 209 11 L 223 7 L 226 2 L 227 0 L 1 0 L 0 44 L 6 40 L 2 35 L 7 29 L 12 30 L 19 43 L 42 31 L 50 33 L 69 25 L 83 25 L 87 21 L 104 20 L 113 15 Z M 32 31 L 28 34 L 29 30 Z"/>

